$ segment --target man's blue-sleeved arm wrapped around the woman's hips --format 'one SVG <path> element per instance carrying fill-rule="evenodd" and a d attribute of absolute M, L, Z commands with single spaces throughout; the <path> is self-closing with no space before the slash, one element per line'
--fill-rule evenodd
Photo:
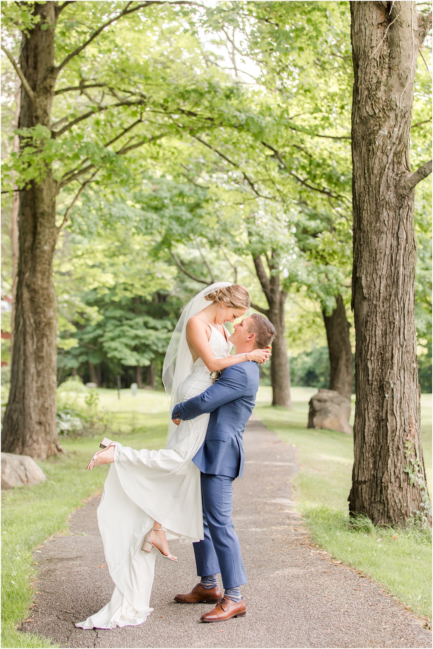
<path fill-rule="evenodd" d="M 199 415 L 217 410 L 245 394 L 248 384 L 246 369 L 232 365 L 224 370 L 218 381 L 197 397 L 174 406 L 172 419 L 195 419 Z"/>

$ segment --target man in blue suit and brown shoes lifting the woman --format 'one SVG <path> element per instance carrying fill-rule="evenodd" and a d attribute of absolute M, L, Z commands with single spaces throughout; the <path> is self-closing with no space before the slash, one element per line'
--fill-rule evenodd
<path fill-rule="evenodd" d="M 274 325 L 259 313 L 244 318 L 234 328 L 229 341 L 235 345 L 236 354 L 264 349 L 272 343 L 276 333 Z M 213 386 L 178 404 L 172 411 L 172 419 L 177 424 L 181 419 L 211 413 L 205 441 L 193 458 L 202 482 L 204 539 L 193 544 L 201 580 L 191 593 L 174 598 L 182 603 L 217 604 L 202 615 L 202 622 L 221 622 L 246 615 L 240 585 L 247 583 L 247 579 L 239 539 L 231 521 L 232 483 L 242 476 L 242 434 L 255 406 L 258 387 L 259 367 L 246 360 L 225 369 Z M 224 597 L 217 582 L 218 572 Z"/>

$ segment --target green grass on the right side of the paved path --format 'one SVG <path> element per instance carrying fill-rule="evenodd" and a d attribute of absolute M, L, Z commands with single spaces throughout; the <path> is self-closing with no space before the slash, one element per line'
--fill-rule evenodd
<path fill-rule="evenodd" d="M 294 476 L 296 506 L 312 538 L 332 556 L 362 570 L 409 606 L 431 618 L 431 535 L 414 529 L 349 529 L 347 496 L 351 487 L 353 438 L 331 430 L 306 428 L 307 400 L 314 391 L 292 390 L 292 411 L 271 408 L 268 390 L 259 391 L 255 415 L 287 443 L 295 445 L 300 471 Z M 353 408 L 354 410 L 354 408 Z M 353 417 L 353 415 L 352 415 Z M 431 395 L 421 397 L 421 434 L 431 494 Z M 397 538 L 393 535 L 397 533 Z"/>

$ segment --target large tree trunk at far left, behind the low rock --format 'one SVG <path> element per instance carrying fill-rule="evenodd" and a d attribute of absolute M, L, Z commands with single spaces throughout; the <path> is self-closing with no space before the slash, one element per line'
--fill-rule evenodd
<path fill-rule="evenodd" d="M 20 128 L 51 125 L 56 5 L 35 3 L 40 23 L 28 36 L 23 34 L 19 63 L 34 99 L 21 88 Z M 47 167 L 40 182 L 32 181 L 20 192 L 12 373 L 1 446 L 6 452 L 39 459 L 62 450 L 56 434 L 57 312 L 51 270 L 57 239 L 56 191 Z"/>

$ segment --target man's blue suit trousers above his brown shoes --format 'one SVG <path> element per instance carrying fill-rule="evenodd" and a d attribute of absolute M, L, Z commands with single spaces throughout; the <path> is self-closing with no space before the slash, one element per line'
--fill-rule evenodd
<path fill-rule="evenodd" d="M 224 588 L 235 588 L 248 580 L 231 520 L 234 478 L 202 473 L 201 480 L 204 539 L 193 543 L 197 574 L 220 572 Z"/>

